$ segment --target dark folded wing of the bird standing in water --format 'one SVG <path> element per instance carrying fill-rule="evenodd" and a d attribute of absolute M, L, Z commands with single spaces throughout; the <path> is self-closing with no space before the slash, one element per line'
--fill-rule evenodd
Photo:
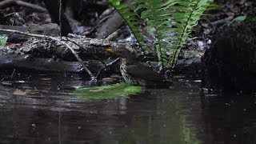
<path fill-rule="evenodd" d="M 164 78 L 158 72 L 152 70 L 150 67 L 139 65 L 129 65 L 126 67 L 127 74 L 130 74 L 134 78 L 145 79 L 153 82 L 162 82 Z"/>

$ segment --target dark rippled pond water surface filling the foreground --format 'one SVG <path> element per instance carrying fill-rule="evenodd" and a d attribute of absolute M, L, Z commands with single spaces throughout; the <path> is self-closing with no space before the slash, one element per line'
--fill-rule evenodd
<path fill-rule="evenodd" d="M 9 80 L 2 74 L 0 143 L 256 143 L 256 99 L 234 94 L 202 101 L 200 82 L 89 100 L 71 93 L 90 84 L 75 74 Z"/>

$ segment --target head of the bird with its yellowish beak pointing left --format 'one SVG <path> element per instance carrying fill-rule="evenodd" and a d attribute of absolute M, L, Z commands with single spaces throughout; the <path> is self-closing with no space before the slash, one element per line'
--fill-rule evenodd
<path fill-rule="evenodd" d="M 135 54 L 133 54 L 130 50 L 127 50 L 126 48 L 109 48 L 106 49 L 106 51 L 112 54 L 116 54 L 120 58 L 136 59 Z"/>

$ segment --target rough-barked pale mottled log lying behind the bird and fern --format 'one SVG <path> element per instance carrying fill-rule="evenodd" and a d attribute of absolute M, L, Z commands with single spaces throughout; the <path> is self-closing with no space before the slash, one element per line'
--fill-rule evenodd
<path fill-rule="evenodd" d="M 142 50 L 137 43 L 133 42 L 112 42 L 106 39 L 86 38 L 74 34 L 71 38 L 62 37 L 62 41 L 73 47 L 82 60 L 95 59 L 95 57 L 110 57 L 111 54 L 106 52 L 106 49 L 110 47 L 126 47 L 126 49 L 136 54 L 138 58 L 142 58 Z M 147 47 L 147 59 L 143 57 L 144 61 L 157 61 L 154 46 L 148 44 Z M 11 49 L 10 46 L 7 45 L 3 47 L 2 50 L 9 50 L 7 53 L 12 54 L 34 54 L 38 57 L 54 55 L 65 61 L 75 61 L 74 55 L 66 46 L 62 45 L 60 42 L 53 42 L 51 39 L 30 38 L 28 41 L 24 42 L 22 46 L 18 47 L 18 49 Z M 0 50 L 0 54 L 3 53 L 2 50 Z M 201 58 L 203 53 L 204 50 L 182 50 L 180 59 Z"/>

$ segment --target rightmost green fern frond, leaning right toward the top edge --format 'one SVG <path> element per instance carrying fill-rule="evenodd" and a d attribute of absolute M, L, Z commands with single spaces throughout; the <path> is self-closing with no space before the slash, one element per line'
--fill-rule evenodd
<path fill-rule="evenodd" d="M 177 22 L 174 24 L 174 27 L 178 29 L 175 30 L 176 33 L 174 34 L 174 38 L 176 38 L 174 45 L 175 53 L 169 57 L 171 68 L 174 68 L 176 65 L 182 46 L 186 44 L 186 40 L 190 36 L 194 26 L 197 25 L 203 12 L 207 10 L 212 2 L 213 0 L 187 0 L 186 2 L 175 3 L 176 6 L 169 5 L 169 8 L 179 11 L 172 15 L 172 19 Z"/>

